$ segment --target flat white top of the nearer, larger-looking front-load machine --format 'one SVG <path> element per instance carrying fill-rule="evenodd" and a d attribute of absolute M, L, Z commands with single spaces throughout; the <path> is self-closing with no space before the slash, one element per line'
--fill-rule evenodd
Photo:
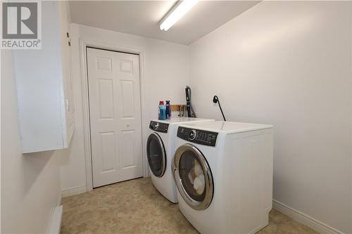
<path fill-rule="evenodd" d="M 250 123 L 242 123 L 242 122 L 225 122 L 225 121 L 182 124 L 182 126 L 194 128 L 194 129 L 206 130 L 206 131 L 224 132 L 226 134 L 272 128 L 272 125 L 267 125 L 267 124 L 250 124 Z"/>

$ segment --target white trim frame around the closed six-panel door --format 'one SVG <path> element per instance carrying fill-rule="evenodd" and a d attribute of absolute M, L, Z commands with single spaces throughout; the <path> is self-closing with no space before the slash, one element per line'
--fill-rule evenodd
<path fill-rule="evenodd" d="M 87 73 L 87 47 L 100 48 L 121 53 L 134 53 L 139 56 L 139 90 L 141 93 L 141 126 L 142 126 L 142 169 L 143 176 L 146 177 L 148 173 L 148 165 L 146 160 L 145 148 L 146 142 L 144 135 L 146 134 L 146 124 L 144 124 L 145 105 L 144 105 L 144 51 L 139 48 L 131 48 L 125 46 L 114 46 L 109 44 L 102 44 L 98 41 L 92 41 L 80 38 L 80 64 L 81 64 L 81 85 L 82 85 L 82 112 L 83 112 L 83 132 L 84 132 L 84 157 L 86 169 L 86 186 L 87 191 L 93 190 L 93 171 L 92 171 L 92 148 L 90 135 L 90 117 L 89 117 L 89 96 L 88 96 L 88 73 Z"/>

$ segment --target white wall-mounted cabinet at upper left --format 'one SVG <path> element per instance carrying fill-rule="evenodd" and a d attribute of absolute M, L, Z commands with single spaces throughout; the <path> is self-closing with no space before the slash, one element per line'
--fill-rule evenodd
<path fill-rule="evenodd" d="M 66 1 L 42 1 L 42 49 L 13 51 L 23 152 L 68 148 L 75 128 Z"/>

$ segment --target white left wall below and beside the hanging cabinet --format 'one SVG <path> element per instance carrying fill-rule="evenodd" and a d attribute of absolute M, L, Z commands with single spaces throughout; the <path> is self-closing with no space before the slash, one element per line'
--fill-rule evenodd
<path fill-rule="evenodd" d="M 23 155 L 13 55 L 1 51 L 1 233 L 46 233 L 60 202 L 61 151 Z"/>

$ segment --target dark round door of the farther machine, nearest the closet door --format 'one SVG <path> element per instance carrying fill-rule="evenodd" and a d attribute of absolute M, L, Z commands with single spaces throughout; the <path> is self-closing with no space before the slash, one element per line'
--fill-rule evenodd
<path fill-rule="evenodd" d="M 154 176 L 163 176 L 166 167 L 166 153 L 163 141 L 158 134 L 153 133 L 149 135 L 146 142 L 146 154 L 149 167 Z"/>

